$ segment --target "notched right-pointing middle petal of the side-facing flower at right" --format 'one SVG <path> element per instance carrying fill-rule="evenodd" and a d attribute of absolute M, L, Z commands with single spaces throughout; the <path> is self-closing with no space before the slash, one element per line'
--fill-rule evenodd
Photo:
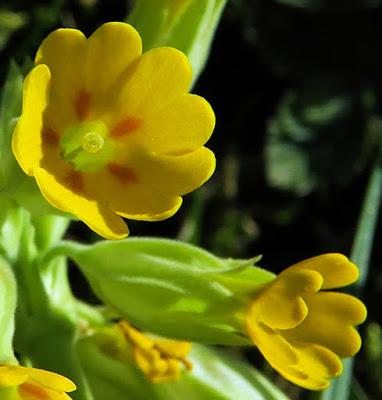
<path fill-rule="evenodd" d="M 344 293 L 320 292 L 305 298 L 308 317 L 295 329 L 283 333 L 288 341 L 316 343 L 340 357 L 353 356 L 361 339 L 352 325 L 362 323 L 366 308 L 357 298 Z"/>

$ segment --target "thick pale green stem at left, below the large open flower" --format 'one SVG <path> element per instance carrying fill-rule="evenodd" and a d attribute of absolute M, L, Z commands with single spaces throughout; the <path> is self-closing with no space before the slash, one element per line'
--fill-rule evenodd
<path fill-rule="evenodd" d="M 45 250 L 44 254 L 48 254 L 46 249 L 54 249 L 51 246 L 59 243 L 67 220 L 44 217 L 33 222 L 25 212 L 18 257 L 13 262 L 19 294 L 16 350 L 28 357 L 33 366 L 72 379 L 78 390 L 71 398 L 93 400 L 75 349 L 80 321 L 67 278 L 66 259 L 62 253 L 46 259 L 40 253 Z M 37 235 L 36 228 L 40 230 Z"/>

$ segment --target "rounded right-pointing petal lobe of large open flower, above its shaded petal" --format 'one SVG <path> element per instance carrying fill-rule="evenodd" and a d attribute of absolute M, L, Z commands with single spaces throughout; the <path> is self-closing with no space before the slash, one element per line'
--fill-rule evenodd
<path fill-rule="evenodd" d="M 214 112 L 202 97 L 183 94 L 155 108 L 140 127 L 120 140 L 158 153 L 184 154 L 203 146 L 215 126 Z"/>

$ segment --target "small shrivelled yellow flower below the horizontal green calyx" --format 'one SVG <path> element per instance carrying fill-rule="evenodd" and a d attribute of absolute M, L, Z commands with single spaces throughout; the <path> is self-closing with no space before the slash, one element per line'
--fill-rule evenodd
<path fill-rule="evenodd" d="M 121 321 L 118 326 L 133 349 L 134 361 L 146 378 L 153 383 L 174 381 L 180 378 L 181 366 L 192 369 L 186 359 L 191 343 L 149 337 Z"/>

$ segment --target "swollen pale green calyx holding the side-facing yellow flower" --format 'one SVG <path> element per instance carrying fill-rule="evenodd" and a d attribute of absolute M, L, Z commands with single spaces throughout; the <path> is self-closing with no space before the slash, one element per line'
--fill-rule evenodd
<path fill-rule="evenodd" d="M 54 251 L 54 250 L 53 250 Z M 143 330 L 214 344 L 249 344 L 250 295 L 273 279 L 251 262 L 175 240 L 133 238 L 63 249 L 108 306 Z"/>

